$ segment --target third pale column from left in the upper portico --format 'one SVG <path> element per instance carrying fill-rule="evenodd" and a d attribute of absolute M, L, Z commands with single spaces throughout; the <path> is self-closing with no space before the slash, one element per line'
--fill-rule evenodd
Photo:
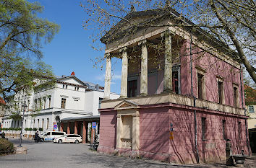
<path fill-rule="evenodd" d="M 148 95 L 148 49 L 147 40 L 138 43 L 141 45 L 140 95 Z"/>

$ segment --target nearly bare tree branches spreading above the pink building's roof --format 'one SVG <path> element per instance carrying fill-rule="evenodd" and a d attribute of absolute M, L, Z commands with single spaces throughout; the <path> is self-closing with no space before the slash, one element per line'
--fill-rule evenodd
<path fill-rule="evenodd" d="M 252 0 L 207 0 L 207 1 L 120 1 L 90 0 L 87 4 L 81 4 L 88 14 L 84 22 L 85 28 L 95 27 L 98 34 L 93 35 L 93 41 L 108 32 L 117 22 L 127 22 L 134 27 L 132 31 L 141 27 L 173 26 L 184 27 L 191 31 L 197 28 L 204 30 L 212 39 L 220 43 L 214 48 L 226 48 L 226 53 L 231 58 L 242 63 L 249 73 L 249 76 L 256 82 L 255 66 L 255 2 Z M 133 22 L 127 19 L 131 12 L 153 9 L 165 9 L 166 12 L 179 12 L 176 24 L 154 25 L 153 20 L 149 22 Z M 160 15 L 160 14 L 159 14 Z M 160 17 L 160 16 L 155 16 Z M 182 22 L 190 19 L 192 22 Z M 92 24 L 93 23 L 93 24 Z M 117 33 L 117 32 L 111 32 Z M 205 36 L 202 36 L 205 39 Z M 209 39 L 210 40 L 210 39 Z"/>

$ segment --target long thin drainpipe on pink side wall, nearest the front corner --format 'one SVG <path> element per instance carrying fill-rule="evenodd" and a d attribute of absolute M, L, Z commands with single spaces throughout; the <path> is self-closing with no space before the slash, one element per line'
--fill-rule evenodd
<path fill-rule="evenodd" d="M 192 34 L 190 32 L 190 72 L 191 72 L 191 95 L 194 99 L 194 107 L 195 107 L 195 96 L 193 94 L 193 79 L 192 79 Z M 196 159 L 197 159 L 197 164 L 199 163 L 199 154 L 198 154 L 198 149 L 197 149 L 197 111 L 194 110 L 194 123 L 195 123 L 195 151 L 196 151 Z"/>

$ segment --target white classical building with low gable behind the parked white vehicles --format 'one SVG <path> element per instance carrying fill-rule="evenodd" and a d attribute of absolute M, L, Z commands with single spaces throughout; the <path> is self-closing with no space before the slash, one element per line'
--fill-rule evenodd
<path fill-rule="evenodd" d="M 71 75 L 57 78 L 55 87 L 51 89 L 33 91 L 30 96 L 17 94 L 15 99 L 19 100 L 17 106 L 21 115 L 24 102 L 28 106 L 24 114 L 23 129 L 60 131 L 60 122 L 64 118 L 99 116 L 98 107 L 103 100 L 103 89 L 98 84 L 81 81 Z M 117 98 L 118 94 L 111 93 L 111 99 Z M 21 128 L 22 120 L 9 118 L 10 115 L 11 112 L 6 112 L 3 128 Z"/>

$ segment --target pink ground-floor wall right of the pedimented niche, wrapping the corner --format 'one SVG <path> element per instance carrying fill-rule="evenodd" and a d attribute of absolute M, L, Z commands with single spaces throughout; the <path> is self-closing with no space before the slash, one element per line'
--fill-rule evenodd
<path fill-rule="evenodd" d="M 202 140 L 201 118 L 206 118 L 206 140 Z M 242 149 L 248 154 L 244 119 L 197 111 L 197 148 L 202 162 L 226 159 L 222 120 L 226 120 L 227 138 L 231 139 L 234 154 L 241 154 Z M 242 138 L 239 138 L 238 122 L 242 123 Z M 173 140 L 169 139 L 170 123 L 174 128 Z M 196 162 L 194 125 L 192 110 L 175 107 L 140 110 L 142 156 L 168 162 Z"/>

